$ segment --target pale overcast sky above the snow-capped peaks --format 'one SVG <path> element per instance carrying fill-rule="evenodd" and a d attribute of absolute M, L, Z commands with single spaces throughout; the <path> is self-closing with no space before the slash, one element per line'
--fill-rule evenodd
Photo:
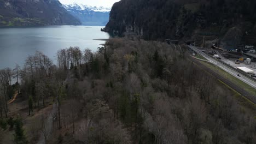
<path fill-rule="evenodd" d="M 115 2 L 120 0 L 59 0 L 62 4 L 72 4 L 72 3 L 81 3 L 90 6 L 103 6 L 103 7 L 112 7 Z"/>

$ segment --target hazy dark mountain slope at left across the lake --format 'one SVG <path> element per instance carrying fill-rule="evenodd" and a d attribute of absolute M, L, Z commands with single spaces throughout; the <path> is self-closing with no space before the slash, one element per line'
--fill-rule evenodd
<path fill-rule="evenodd" d="M 0 26 L 80 25 L 58 0 L 0 0 Z"/>

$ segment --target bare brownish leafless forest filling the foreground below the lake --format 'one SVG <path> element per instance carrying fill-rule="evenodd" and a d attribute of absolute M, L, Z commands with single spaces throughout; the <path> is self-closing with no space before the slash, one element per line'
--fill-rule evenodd
<path fill-rule="evenodd" d="M 0 143 L 255 143 L 255 106 L 182 48 L 117 38 L 97 52 L 62 49 L 57 65 L 37 52 L 1 70 Z"/>

